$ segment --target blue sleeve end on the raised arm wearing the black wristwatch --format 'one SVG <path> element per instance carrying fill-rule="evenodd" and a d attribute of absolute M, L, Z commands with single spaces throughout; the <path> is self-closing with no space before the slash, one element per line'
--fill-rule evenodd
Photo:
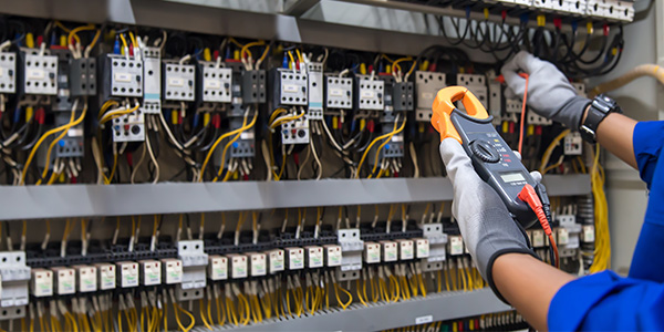
<path fill-rule="evenodd" d="M 639 122 L 634 127 L 632 146 L 641 179 L 651 188 L 657 158 L 664 145 L 664 121 Z"/>

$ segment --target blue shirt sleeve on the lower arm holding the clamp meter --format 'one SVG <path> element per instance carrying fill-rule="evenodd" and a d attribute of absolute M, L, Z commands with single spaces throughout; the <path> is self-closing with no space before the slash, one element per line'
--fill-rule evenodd
<path fill-rule="evenodd" d="M 612 271 L 563 286 L 549 307 L 550 331 L 662 331 L 664 284 Z"/>

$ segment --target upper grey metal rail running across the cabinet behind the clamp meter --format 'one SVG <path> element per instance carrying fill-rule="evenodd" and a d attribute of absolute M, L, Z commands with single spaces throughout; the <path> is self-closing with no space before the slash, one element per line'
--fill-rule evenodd
<path fill-rule="evenodd" d="M 550 196 L 590 193 L 588 175 L 548 176 Z M 443 201 L 446 178 L 0 187 L 0 220 Z"/>

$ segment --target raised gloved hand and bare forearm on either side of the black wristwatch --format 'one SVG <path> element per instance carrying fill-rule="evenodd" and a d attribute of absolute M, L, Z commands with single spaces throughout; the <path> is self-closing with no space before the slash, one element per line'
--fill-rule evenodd
<path fill-rule="evenodd" d="M 522 97 L 528 74 L 528 105 L 539 115 L 560 122 L 579 131 L 592 102 L 577 95 L 567 77 L 550 62 L 537 59 L 521 51 L 502 68 L 501 72 L 509 89 Z M 602 147 L 636 168 L 632 137 L 636 121 L 618 113 L 611 113 L 599 125 L 596 139 Z"/>

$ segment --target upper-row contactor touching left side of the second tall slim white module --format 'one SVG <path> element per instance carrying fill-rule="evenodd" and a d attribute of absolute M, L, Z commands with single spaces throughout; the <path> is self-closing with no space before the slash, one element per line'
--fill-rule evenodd
<path fill-rule="evenodd" d="M 307 72 L 276 69 L 273 72 L 273 104 L 278 106 L 305 106 L 309 100 Z"/>

